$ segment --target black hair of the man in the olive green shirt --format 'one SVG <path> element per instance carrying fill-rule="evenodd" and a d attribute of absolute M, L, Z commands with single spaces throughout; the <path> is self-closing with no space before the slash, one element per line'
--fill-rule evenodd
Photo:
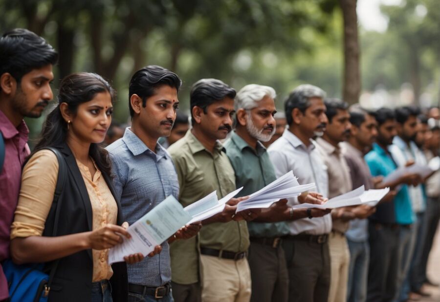
<path fill-rule="evenodd" d="M 191 123 L 194 125 L 193 108 L 195 106 L 207 113 L 209 105 L 225 97 L 234 99 L 237 92 L 234 88 L 217 79 L 201 79 L 194 83 L 190 93 Z"/>

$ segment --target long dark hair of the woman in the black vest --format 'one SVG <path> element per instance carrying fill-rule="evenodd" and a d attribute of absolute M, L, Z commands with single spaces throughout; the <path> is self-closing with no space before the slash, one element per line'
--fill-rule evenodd
<path fill-rule="evenodd" d="M 59 146 L 66 141 L 67 122 L 61 115 L 61 103 L 66 103 L 68 110 L 72 114 L 76 114 L 80 104 L 92 100 L 97 93 L 105 92 L 110 93 L 113 103 L 115 91 L 106 80 L 96 73 L 79 72 L 66 76 L 60 84 L 58 104 L 46 117 L 40 139 L 33 153 L 44 147 Z M 88 154 L 102 172 L 111 175 L 110 158 L 106 149 L 97 143 L 92 143 Z"/>

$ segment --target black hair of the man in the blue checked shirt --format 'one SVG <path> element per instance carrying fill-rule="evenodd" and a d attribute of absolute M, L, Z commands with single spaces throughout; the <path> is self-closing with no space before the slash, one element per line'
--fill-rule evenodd
<path fill-rule="evenodd" d="M 130 80 L 129 85 L 129 109 L 130 116 L 134 116 L 134 111 L 130 99 L 133 94 L 142 98 L 142 107 L 147 105 L 147 98 L 154 95 L 155 89 L 168 85 L 176 88 L 177 92 L 182 86 L 182 81 L 176 73 L 157 65 L 149 65 L 137 70 Z"/>

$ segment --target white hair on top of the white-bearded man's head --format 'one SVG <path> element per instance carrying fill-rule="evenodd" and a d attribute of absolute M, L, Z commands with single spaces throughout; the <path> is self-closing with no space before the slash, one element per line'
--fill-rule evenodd
<path fill-rule="evenodd" d="M 265 96 L 273 99 L 277 96 L 275 89 L 269 86 L 249 84 L 244 86 L 235 97 L 235 110 L 250 110 L 258 106 L 258 102 Z"/>

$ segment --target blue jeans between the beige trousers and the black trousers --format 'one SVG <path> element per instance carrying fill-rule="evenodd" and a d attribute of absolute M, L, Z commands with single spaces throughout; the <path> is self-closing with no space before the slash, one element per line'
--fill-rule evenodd
<path fill-rule="evenodd" d="M 368 241 L 347 241 L 350 249 L 347 302 L 365 302 L 367 299 L 370 244 L 368 243 Z"/>

